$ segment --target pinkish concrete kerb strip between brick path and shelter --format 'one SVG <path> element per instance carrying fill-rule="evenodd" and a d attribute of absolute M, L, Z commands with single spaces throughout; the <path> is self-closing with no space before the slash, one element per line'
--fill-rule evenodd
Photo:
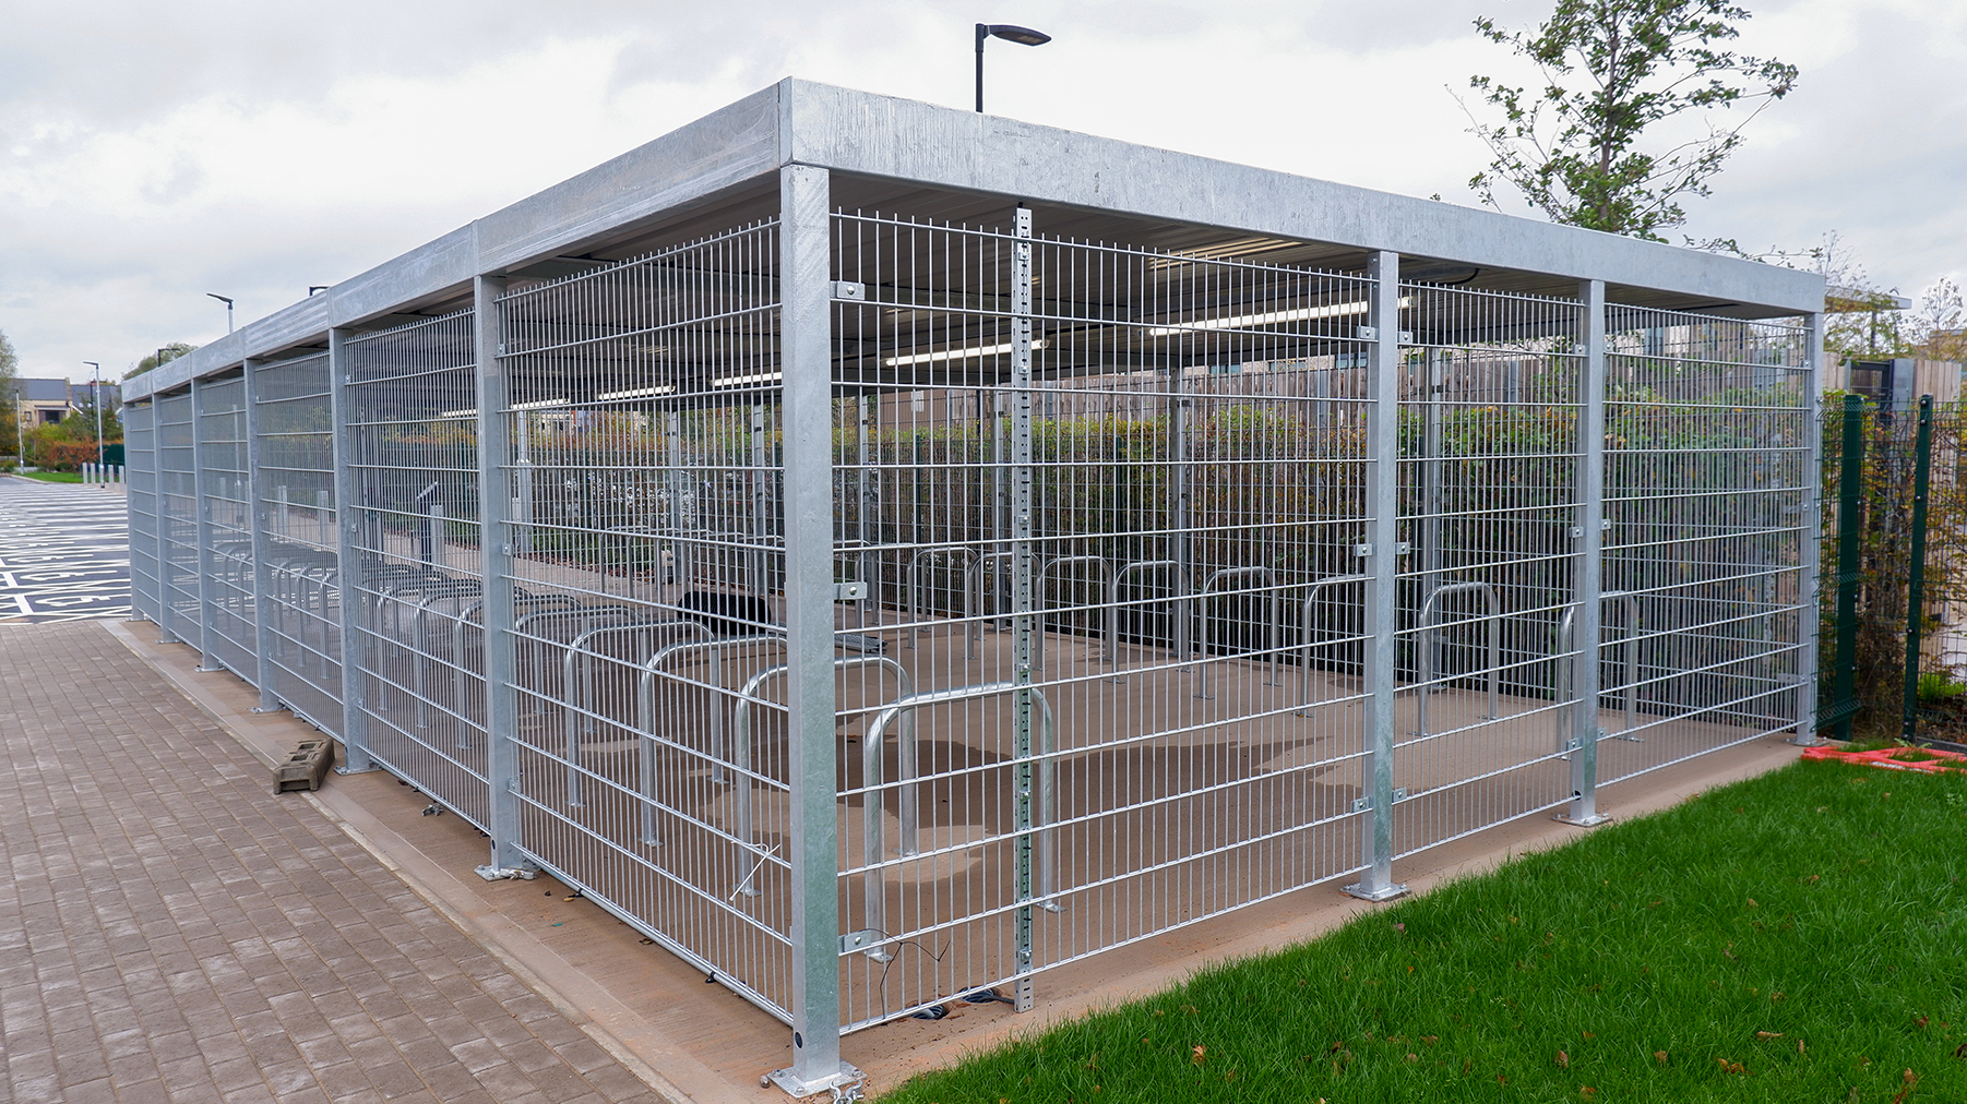
<path fill-rule="evenodd" d="M 236 739 L 254 758 L 266 764 L 268 770 L 285 760 L 285 748 L 264 731 L 266 725 L 254 725 L 205 691 L 197 682 L 181 678 L 181 672 L 173 670 L 163 654 L 134 635 L 126 623 L 106 621 L 104 629 Z M 293 721 L 283 719 L 279 723 L 285 727 Z M 413 843 L 386 827 L 362 809 L 362 805 L 336 794 L 332 786 L 297 794 L 346 833 L 356 847 L 366 851 L 376 862 L 409 886 L 411 892 L 423 898 L 425 904 L 437 910 L 439 915 L 450 921 L 452 927 L 484 947 L 521 984 L 545 998 L 568 1023 L 580 1027 L 598 1047 L 639 1076 L 657 1096 L 669 1104 L 692 1104 L 692 1100 L 700 1098 L 686 1094 L 669 1076 L 657 1073 L 653 1063 L 661 1063 L 663 1069 L 698 1075 L 690 1078 L 704 1080 L 698 1092 L 722 1086 L 720 1076 L 663 1041 L 641 1016 L 616 1000 L 592 978 L 568 966 L 553 949 L 504 915 L 482 908 L 448 870 L 429 860 Z M 549 976 L 557 980 L 549 980 Z"/>

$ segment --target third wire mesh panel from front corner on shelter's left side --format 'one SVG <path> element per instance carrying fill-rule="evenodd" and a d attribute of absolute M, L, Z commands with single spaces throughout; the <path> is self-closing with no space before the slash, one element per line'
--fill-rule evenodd
<path fill-rule="evenodd" d="M 273 695 L 315 725 L 342 727 L 342 581 L 334 554 L 334 414 L 328 356 L 252 369 L 268 544 L 268 660 Z"/>

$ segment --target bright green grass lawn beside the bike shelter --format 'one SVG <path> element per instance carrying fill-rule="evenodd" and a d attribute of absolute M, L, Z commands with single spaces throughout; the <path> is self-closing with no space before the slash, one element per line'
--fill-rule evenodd
<path fill-rule="evenodd" d="M 881 1096 L 1967 1102 L 1967 776 L 1800 762 Z"/>

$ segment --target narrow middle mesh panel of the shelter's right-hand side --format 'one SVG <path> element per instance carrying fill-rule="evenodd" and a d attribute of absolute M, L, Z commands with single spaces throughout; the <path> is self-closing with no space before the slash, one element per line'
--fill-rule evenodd
<path fill-rule="evenodd" d="M 1401 287 L 1395 855 L 1572 792 L 1558 733 L 1578 648 L 1581 314 Z"/>

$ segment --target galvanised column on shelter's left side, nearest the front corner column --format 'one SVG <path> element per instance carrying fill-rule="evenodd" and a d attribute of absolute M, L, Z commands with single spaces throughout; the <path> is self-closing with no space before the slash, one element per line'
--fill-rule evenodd
<path fill-rule="evenodd" d="M 498 297 L 506 281 L 472 281 L 472 361 L 478 367 L 478 552 L 484 580 L 486 784 L 492 860 L 478 876 L 531 878 L 537 868 L 519 841 L 519 695 L 513 690 L 517 648 L 511 593 L 511 397 L 506 387 L 506 326 Z"/>

